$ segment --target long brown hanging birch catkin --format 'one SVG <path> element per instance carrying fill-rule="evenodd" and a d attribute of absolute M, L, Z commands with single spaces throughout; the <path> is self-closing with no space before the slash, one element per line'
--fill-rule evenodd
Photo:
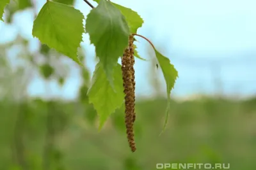
<path fill-rule="evenodd" d="M 134 80 L 134 38 L 129 37 L 129 46 L 122 57 L 123 85 L 125 93 L 125 125 L 127 139 L 132 152 L 136 150 L 133 132 L 135 120 L 135 80 Z"/>

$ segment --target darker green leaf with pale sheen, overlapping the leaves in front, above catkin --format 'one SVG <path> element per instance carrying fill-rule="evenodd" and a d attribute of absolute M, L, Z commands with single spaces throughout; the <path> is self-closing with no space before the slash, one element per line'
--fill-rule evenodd
<path fill-rule="evenodd" d="M 129 41 L 129 27 L 124 15 L 109 1 L 100 1 L 86 19 L 86 32 L 95 45 L 97 57 L 113 86 L 113 67 L 123 55 Z"/>

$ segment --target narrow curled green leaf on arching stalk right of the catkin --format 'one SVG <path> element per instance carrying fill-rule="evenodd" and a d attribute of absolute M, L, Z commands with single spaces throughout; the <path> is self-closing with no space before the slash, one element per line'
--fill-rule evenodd
<path fill-rule="evenodd" d="M 168 123 L 168 117 L 169 117 L 169 111 L 170 111 L 170 94 L 171 94 L 171 90 L 174 87 L 175 81 L 178 77 L 178 72 L 175 69 L 175 67 L 170 63 L 170 59 L 168 59 L 167 57 L 164 57 L 164 55 L 159 53 L 156 49 L 154 50 L 156 52 L 156 57 L 159 62 L 159 66 L 163 71 L 164 79 L 166 81 L 166 93 L 167 93 L 168 105 L 166 108 L 166 118 L 165 118 L 164 128 L 163 128 L 163 131 L 164 131 Z M 163 133 L 163 131 L 161 132 L 161 134 Z"/>

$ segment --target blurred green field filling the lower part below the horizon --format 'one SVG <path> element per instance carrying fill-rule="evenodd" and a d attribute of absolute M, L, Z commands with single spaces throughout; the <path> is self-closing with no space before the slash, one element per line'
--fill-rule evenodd
<path fill-rule="evenodd" d="M 255 169 L 255 99 L 172 101 L 168 129 L 166 101 L 138 101 L 138 150 L 125 138 L 124 108 L 102 131 L 90 104 L 31 99 L 0 103 L 0 169 L 156 169 L 157 163 L 230 163 Z M 253 111 L 248 113 L 246 110 Z M 18 168 L 19 167 L 19 168 Z"/>

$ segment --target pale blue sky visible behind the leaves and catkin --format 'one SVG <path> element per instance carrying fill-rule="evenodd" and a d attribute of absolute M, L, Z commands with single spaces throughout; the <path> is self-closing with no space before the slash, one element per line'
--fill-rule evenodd
<path fill-rule="evenodd" d="M 179 71 L 179 80 L 173 94 L 184 96 L 198 92 L 212 92 L 212 69 L 209 63 L 221 66 L 220 74 L 225 90 L 234 88 L 238 82 L 242 94 L 255 94 L 256 89 L 248 84 L 256 83 L 252 73 L 256 69 L 256 1 L 253 0 L 159 0 L 135 1 L 116 0 L 132 10 L 138 11 L 145 20 L 139 34 L 147 36 L 159 47 L 159 50 L 169 57 Z M 36 11 L 44 5 L 45 0 L 36 0 Z M 92 4 L 96 3 L 92 2 Z M 86 16 L 91 10 L 83 0 L 77 0 L 76 6 Z M 31 10 L 15 15 L 13 26 L 0 23 L 0 43 L 15 38 L 15 32 L 22 32 L 22 36 L 30 39 L 31 49 L 36 50 L 37 39 L 31 36 L 33 18 Z M 14 33 L 13 33 L 14 32 Z M 139 38 L 138 38 L 139 39 Z M 87 61 L 90 70 L 94 69 L 94 48 L 90 45 L 88 35 L 84 35 L 83 48 L 91 56 Z M 139 39 L 139 53 L 141 57 L 149 59 L 147 42 Z M 148 75 L 150 62 L 136 60 L 136 93 L 148 96 L 152 88 L 144 77 Z M 72 76 L 67 84 L 60 89 L 56 83 L 50 83 L 53 96 L 74 98 L 79 86 L 78 69 L 74 67 Z M 210 76 L 209 76 L 210 75 Z M 210 78 L 209 78 L 210 77 Z M 163 76 L 159 73 L 164 92 Z M 202 88 L 203 86 L 203 88 Z M 29 87 L 33 96 L 44 94 L 44 83 L 38 78 Z M 247 90 L 246 90 L 247 89 Z M 248 90 L 249 89 L 249 90 Z M 232 94 L 232 90 L 230 91 Z"/>

